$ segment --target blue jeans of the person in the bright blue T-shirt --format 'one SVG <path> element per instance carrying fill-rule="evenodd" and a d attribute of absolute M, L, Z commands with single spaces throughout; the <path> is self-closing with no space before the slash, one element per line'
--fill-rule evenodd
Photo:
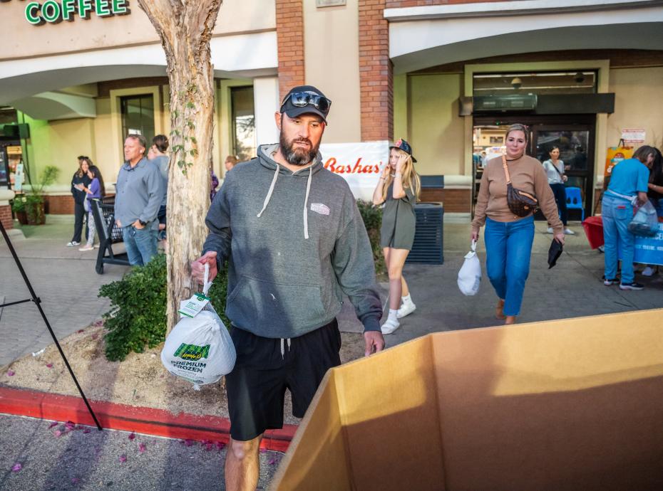
<path fill-rule="evenodd" d="M 629 222 L 633 218 L 633 206 L 625 199 L 603 194 L 601 204 L 603 218 L 603 241 L 605 241 L 605 278 L 614 280 L 617 276 L 617 244 L 622 253 L 622 283 L 633 283 L 633 242 L 629 233 Z"/>

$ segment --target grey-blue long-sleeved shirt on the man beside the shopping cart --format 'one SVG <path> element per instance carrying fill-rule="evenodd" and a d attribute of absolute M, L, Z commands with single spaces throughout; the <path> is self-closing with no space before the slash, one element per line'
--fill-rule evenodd
<path fill-rule="evenodd" d="M 158 228 L 155 218 L 163 199 L 163 179 L 158 167 L 145 157 L 134 167 L 125 162 L 120 168 L 115 191 L 115 219 L 123 227 L 141 220 L 152 222 L 151 228 Z"/>

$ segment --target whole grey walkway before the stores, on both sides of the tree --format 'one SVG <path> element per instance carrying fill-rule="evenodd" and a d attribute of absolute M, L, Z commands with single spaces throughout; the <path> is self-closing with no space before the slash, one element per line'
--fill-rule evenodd
<path fill-rule="evenodd" d="M 495 320 L 495 292 L 485 277 L 485 249 L 480 241 L 478 253 L 484 277 L 478 295 L 465 297 L 458 290 L 456 278 L 469 249 L 469 223 L 444 226 L 443 265 L 406 265 L 404 275 L 417 310 L 401 322 L 401 328 L 386 337 L 394 346 L 429 332 L 499 325 Z M 552 236 L 545 233 L 545 222 L 536 222 L 536 234 L 530 263 L 530 277 L 525 288 L 523 310 L 518 322 L 561 319 L 585 315 L 625 312 L 663 307 L 663 278 L 654 275 L 637 281 L 644 283 L 639 292 L 622 291 L 601 282 L 603 255 L 591 250 L 579 223 L 571 225 L 577 233 L 567 236 L 564 253 L 557 266 L 548 270 L 548 248 Z M 108 310 L 108 299 L 97 297 L 99 287 L 122 278 L 127 267 L 107 265 L 105 274 L 94 271 L 96 250 L 79 252 L 68 248 L 73 229 L 72 216 L 48 216 L 46 226 L 22 228 L 26 239 L 16 240 L 19 258 L 41 300 L 58 338 L 65 337 L 94 322 Z M 383 302 L 388 285 L 381 285 Z M 9 250 L 0 244 L 0 297 L 5 302 L 22 300 L 29 292 L 11 259 Z M 354 310 L 345 302 L 339 318 L 341 330 L 361 332 Z M 0 366 L 51 343 L 51 337 L 34 305 L 27 303 L 6 307 L 0 317 L 0 339 L 4 349 Z"/>

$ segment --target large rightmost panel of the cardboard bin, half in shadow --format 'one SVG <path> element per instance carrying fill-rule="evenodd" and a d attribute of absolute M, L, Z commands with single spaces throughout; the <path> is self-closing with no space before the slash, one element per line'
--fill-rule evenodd
<path fill-rule="evenodd" d="M 663 489 L 662 310 L 433 346 L 449 489 Z"/>

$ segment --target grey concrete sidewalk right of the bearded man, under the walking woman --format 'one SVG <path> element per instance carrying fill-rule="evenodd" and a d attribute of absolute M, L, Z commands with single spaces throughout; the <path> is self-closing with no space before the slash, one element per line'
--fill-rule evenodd
<path fill-rule="evenodd" d="M 636 280 L 645 285 L 641 291 L 622 291 L 617 286 L 603 285 L 604 256 L 590 249 L 580 223 L 570 225 L 576 235 L 566 236 L 564 253 L 555 268 L 549 270 L 552 235 L 545 233 L 545 222 L 536 222 L 535 228 L 530 275 L 518 322 L 663 307 L 661 275 L 644 278 L 636 274 Z M 443 265 L 406 265 L 404 276 L 417 310 L 401 320 L 401 327 L 394 334 L 385 337 L 387 346 L 431 332 L 503 324 L 495 319 L 497 296 L 485 276 L 483 232 L 477 248 L 483 273 L 480 290 L 474 297 L 466 297 L 458 290 L 458 270 L 470 247 L 470 229 L 469 223 L 445 224 Z M 386 295 L 388 285 L 384 283 L 381 287 Z M 341 327 L 361 332 L 361 325 L 353 317 L 354 312 L 346 302 Z"/>

